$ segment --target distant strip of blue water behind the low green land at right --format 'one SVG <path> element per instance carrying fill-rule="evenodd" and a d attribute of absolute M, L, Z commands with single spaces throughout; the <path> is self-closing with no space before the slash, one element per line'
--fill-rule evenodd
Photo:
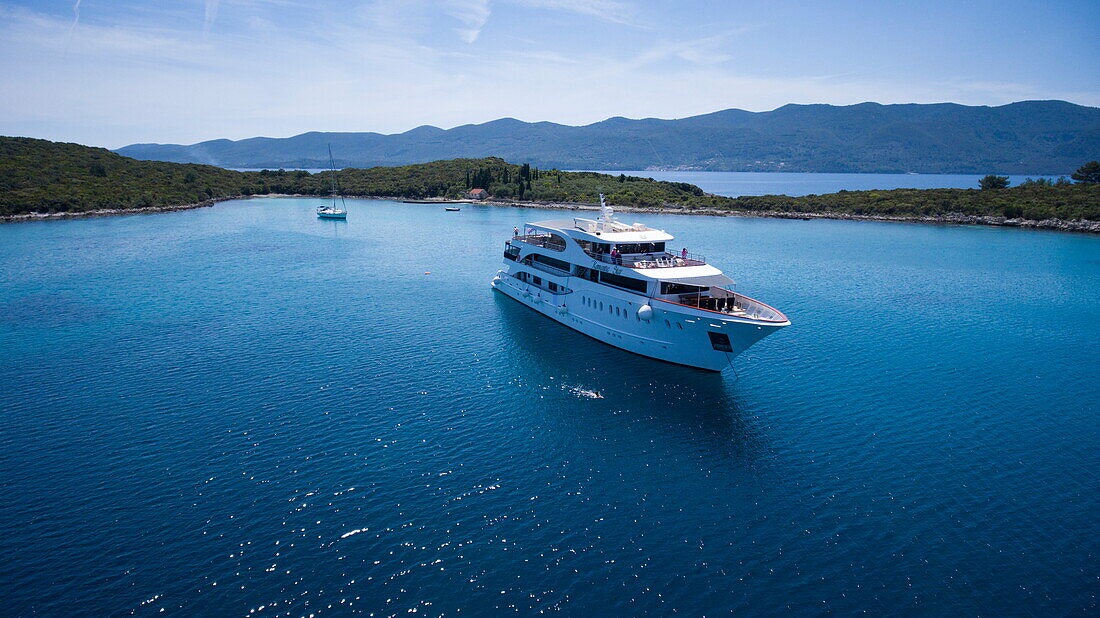
<path fill-rule="evenodd" d="M 839 190 L 870 189 L 977 189 L 985 174 L 800 174 L 793 172 L 607 172 L 601 174 L 640 176 L 654 180 L 691 183 L 719 196 L 809 196 Z M 1057 180 L 1057 176 L 1009 176 L 1016 186 L 1027 178 Z"/>

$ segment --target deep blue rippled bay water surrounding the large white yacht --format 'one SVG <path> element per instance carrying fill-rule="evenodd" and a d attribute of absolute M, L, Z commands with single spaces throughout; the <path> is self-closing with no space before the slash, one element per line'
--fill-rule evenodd
<path fill-rule="evenodd" d="M 710 374 L 314 205 L 0 227 L 4 614 L 1097 611 L 1100 238 L 647 217 L 793 321 Z"/>

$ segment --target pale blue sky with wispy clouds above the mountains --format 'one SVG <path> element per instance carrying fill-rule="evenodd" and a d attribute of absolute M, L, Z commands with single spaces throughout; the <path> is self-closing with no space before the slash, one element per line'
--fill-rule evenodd
<path fill-rule="evenodd" d="M 785 103 L 1100 107 L 1098 33 L 1098 0 L 0 0 L 0 134 L 120 147 Z"/>

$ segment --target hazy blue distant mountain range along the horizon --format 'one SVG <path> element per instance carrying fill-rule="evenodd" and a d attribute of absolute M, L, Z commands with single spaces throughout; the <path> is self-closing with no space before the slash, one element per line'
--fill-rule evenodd
<path fill-rule="evenodd" d="M 316 168 L 328 167 L 329 144 L 341 167 L 498 156 L 543 169 L 1057 175 L 1100 158 L 1100 108 L 1066 101 L 789 104 L 679 120 L 610 118 L 569 126 L 505 118 L 393 135 L 310 132 L 116 152 L 231 168 Z"/>

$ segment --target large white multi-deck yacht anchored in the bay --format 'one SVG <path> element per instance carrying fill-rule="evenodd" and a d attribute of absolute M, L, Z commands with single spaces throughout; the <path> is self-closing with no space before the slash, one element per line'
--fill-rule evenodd
<path fill-rule="evenodd" d="M 505 243 L 494 289 L 582 333 L 644 356 L 722 371 L 791 322 L 732 291 L 701 255 L 669 251 L 673 236 L 615 220 L 528 223 Z"/>

